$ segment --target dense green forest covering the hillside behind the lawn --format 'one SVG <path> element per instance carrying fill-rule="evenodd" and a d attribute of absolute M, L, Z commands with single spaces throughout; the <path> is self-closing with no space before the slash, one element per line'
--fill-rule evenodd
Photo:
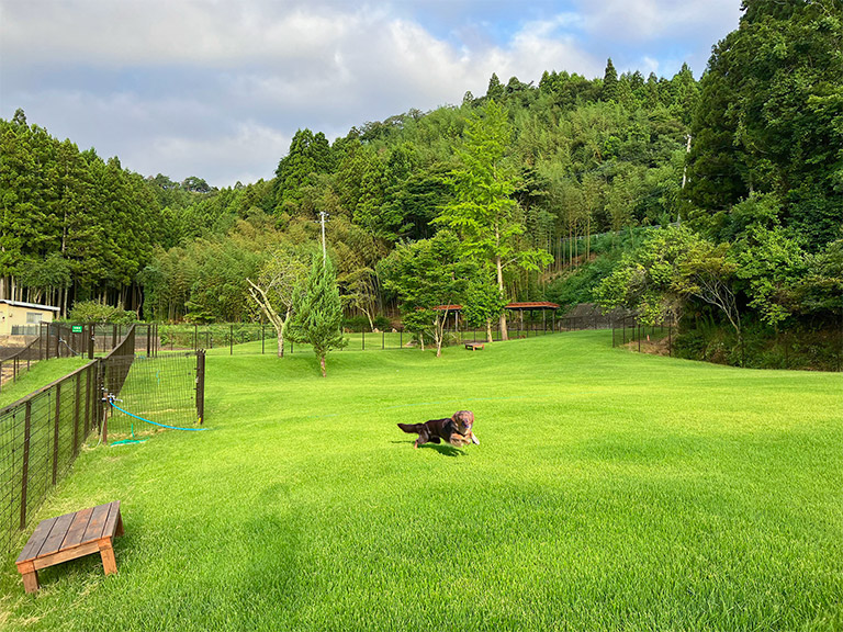
<path fill-rule="evenodd" d="M 447 291 L 479 321 L 502 301 L 597 302 L 681 318 L 694 357 L 737 362 L 782 331 L 822 356 L 843 316 L 842 14 L 746 0 L 699 80 L 611 59 L 591 79 L 493 75 L 333 142 L 300 129 L 274 178 L 224 189 L 131 172 L 18 110 L 0 120 L 0 298 L 259 320 L 248 280 L 308 261 L 326 217 L 346 317 L 369 327 L 416 316 L 408 261 L 450 242 L 470 266 Z"/>

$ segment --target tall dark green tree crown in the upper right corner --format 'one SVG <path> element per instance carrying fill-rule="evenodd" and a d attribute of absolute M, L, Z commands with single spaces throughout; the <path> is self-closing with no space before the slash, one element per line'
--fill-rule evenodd
<path fill-rule="evenodd" d="M 843 11 L 838 0 L 744 10 L 700 81 L 687 194 L 709 232 L 751 193 L 773 194 L 783 226 L 816 251 L 843 225 Z"/>

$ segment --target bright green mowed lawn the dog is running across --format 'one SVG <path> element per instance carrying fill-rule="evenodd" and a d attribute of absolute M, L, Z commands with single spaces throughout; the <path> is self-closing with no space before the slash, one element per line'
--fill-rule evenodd
<path fill-rule="evenodd" d="M 325 380 L 220 350 L 206 394 L 209 431 L 87 450 L 40 511 L 120 499 L 119 575 L 25 596 L 10 554 L 0 628 L 843 629 L 841 374 L 584 331 L 345 350 Z M 462 408 L 481 445 L 395 427 Z"/>

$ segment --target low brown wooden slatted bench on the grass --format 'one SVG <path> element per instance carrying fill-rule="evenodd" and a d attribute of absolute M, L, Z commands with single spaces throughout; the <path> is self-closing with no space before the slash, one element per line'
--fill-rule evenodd
<path fill-rule="evenodd" d="M 38 589 L 38 571 L 99 552 L 105 575 L 117 572 L 112 541 L 123 535 L 120 500 L 42 520 L 15 564 L 26 592 Z"/>

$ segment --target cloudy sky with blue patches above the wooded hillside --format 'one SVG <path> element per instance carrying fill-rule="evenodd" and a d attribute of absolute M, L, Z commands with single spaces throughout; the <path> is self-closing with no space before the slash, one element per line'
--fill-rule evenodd
<path fill-rule="evenodd" d="M 699 78 L 740 0 L 0 0 L 0 119 L 144 176 L 269 179 L 296 129 L 483 95 L 495 72 Z"/>

